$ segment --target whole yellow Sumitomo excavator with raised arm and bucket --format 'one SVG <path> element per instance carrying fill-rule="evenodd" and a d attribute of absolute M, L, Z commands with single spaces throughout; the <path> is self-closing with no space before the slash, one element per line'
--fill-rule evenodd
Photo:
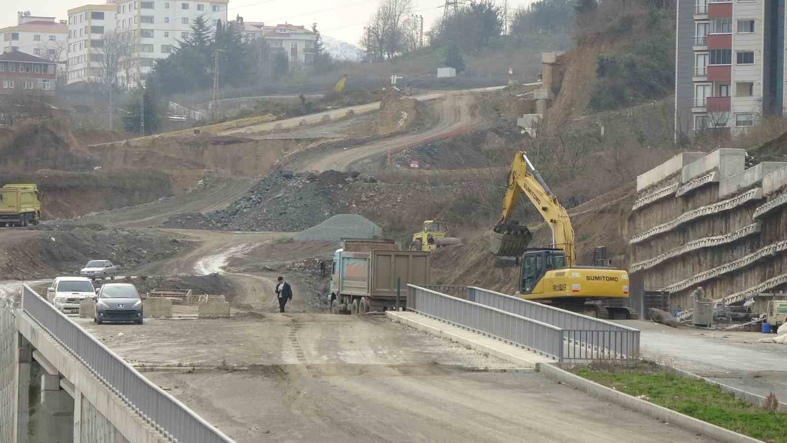
<path fill-rule="evenodd" d="M 533 238 L 530 229 L 510 219 L 522 194 L 552 229 L 549 248 L 527 248 Z M 629 274 L 604 266 L 603 246 L 594 251 L 593 266 L 577 266 L 571 220 L 524 151 L 514 156 L 501 218 L 492 231 L 490 251 L 494 255 L 522 260 L 517 296 L 596 318 L 637 318 L 634 309 L 602 303 L 629 298 Z"/>

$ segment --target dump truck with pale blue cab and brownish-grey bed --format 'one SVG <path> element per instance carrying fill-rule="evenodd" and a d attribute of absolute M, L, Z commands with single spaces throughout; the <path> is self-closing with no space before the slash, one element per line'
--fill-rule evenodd
<path fill-rule="evenodd" d="M 393 240 L 342 240 L 331 268 L 331 314 L 405 307 L 408 284 L 430 283 L 430 257 L 427 251 L 401 251 Z"/>

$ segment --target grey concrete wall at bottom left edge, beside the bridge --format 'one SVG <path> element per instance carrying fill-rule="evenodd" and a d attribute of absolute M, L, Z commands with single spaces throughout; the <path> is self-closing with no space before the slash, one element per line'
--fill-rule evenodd
<path fill-rule="evenodd" d="M 17 411 L 17 324 L 11 307 L 0 299 L 0 441 L 16 441 L 13 435 Z"/>

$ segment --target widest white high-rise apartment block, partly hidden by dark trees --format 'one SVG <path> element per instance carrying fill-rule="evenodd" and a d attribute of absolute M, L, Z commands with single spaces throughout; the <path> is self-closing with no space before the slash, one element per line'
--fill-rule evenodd
<path fill-rule="evenodd" d="M 227 23 L 229 0 L 127 0 L 117 1 L 116 31 L 133 40 L 134 54 L 124 61 L 118 80 L 121 85 L 139 85 L 157 59 L 167 58 L 186 39 L 190 24 L 202 16 L 216 26 Z M 206 66 L 207 67 L 207 66 Z"/>

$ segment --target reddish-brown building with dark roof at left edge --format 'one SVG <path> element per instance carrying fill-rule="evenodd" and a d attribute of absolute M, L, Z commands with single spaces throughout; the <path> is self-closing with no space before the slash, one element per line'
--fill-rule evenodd
<path fill-rule="evenodd" d="M 57 63 L 14 50 L 0 54 L 0 95 L 55 94 Z"/>

